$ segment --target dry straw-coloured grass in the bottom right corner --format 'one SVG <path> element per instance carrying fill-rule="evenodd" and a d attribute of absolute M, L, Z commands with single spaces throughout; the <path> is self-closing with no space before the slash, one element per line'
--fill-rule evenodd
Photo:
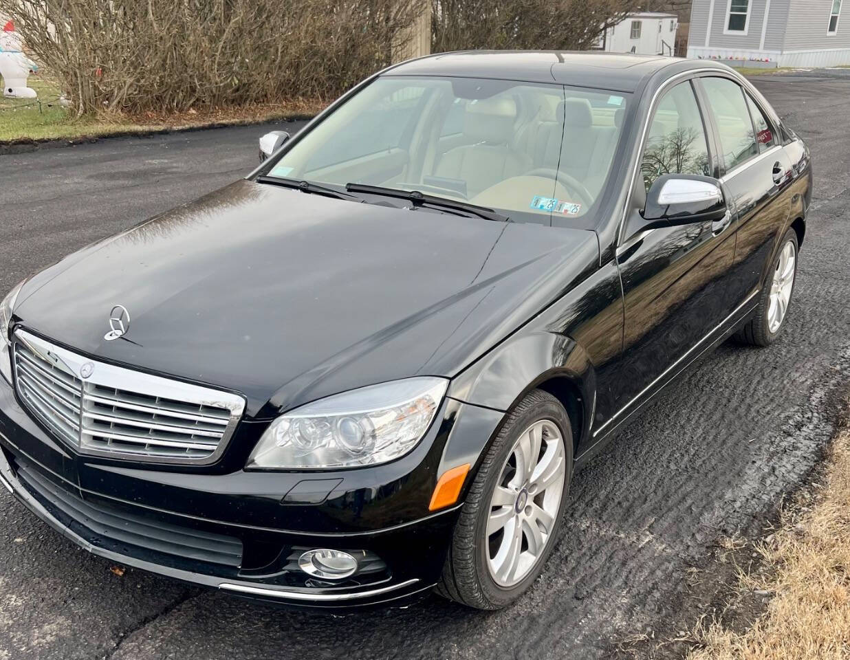
<path fill-rule="evenodd" d="M 743 633 L 700 622 L 688 660 L 850 658 L 850 431 L 833 443 L 823 481 L 757 546 L 772 570 L 740 576 L 741 590 L 772 596 L 767 612 Z"/>

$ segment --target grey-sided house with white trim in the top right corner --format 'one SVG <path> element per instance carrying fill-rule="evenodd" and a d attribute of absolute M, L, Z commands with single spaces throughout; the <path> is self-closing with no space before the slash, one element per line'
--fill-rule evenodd
<path fill-rule="evenodd" d="M 688 57 L 850 64 L 850 0 L 693 0 Z"/>

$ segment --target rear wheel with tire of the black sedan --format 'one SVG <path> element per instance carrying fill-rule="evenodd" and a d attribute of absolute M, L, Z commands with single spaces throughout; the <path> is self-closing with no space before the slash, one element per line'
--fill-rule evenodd
<path fill-rule="evenodd" d="M 789 229 L 782 239 L 779 255 L 774 259 L 758 307 L 752 318 L 737 332 L 735 339 L 751 346 L 768 346 L 776 341 L 785 327 L 791 295 L 796 280 L 796 231 Z"/>

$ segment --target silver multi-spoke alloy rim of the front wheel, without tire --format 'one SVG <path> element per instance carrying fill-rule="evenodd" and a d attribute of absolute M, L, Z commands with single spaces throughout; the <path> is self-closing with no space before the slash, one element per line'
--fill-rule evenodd
<path fill-rule="evenodd" d="M 513 444 L 490 498 L 487 567 L 501 587 L 522 582 L 552 541 L 564 495 L 564 437 L 540 420 Z"/>

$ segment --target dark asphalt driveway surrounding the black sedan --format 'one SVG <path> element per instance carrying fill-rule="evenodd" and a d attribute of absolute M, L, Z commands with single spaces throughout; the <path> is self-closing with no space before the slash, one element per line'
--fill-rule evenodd
<path fill-rule="evenodd" d="M 0 660 L 584 660 L 669 623 L 686 570 L 719 537 L 754 531 L 817 463 L 850 375 L 850 77 L 755 82 L 808 140 L 817 177 L 785 335 L 766 350 L 721 347 L 575 478 L 558 547 L 517 606 L 481 613 L 433 597 L 330 618 L 141 571 L 119 576 L 3 491 Z M 256 162 L 260 133 L 239 127 L 0 156 L 0 289 L 240 177 Z"/>

